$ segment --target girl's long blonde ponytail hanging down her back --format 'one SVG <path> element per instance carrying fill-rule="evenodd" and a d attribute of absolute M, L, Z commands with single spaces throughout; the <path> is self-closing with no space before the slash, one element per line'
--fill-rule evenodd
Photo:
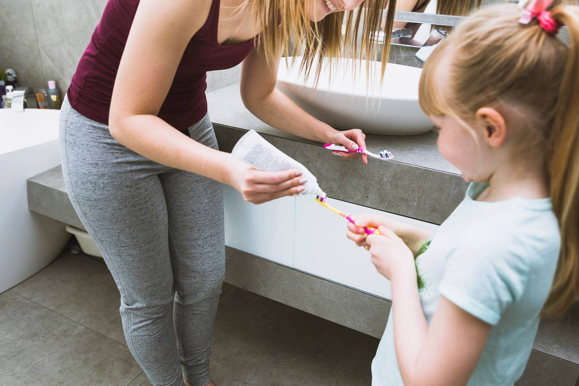
<path fill-rule="evenodd" d="M 543 313 L 558 317 L 579 300 L 579 12 L 574 6 L 558 6 L 551 16 L 567 27 L 570 38 L 549 138 L 551 199 L 561 252 Z"/>

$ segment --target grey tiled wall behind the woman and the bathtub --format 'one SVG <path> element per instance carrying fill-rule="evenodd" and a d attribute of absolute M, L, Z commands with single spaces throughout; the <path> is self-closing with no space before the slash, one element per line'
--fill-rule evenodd
<path fill-rule="evenodd" d="M 14 68 L 20 86 L 64 94 L 108 0 L 17 0 L 0 12 L 0 67 Z M 240 69 L 207 76 L 208 91 L 239 81 Z"/>

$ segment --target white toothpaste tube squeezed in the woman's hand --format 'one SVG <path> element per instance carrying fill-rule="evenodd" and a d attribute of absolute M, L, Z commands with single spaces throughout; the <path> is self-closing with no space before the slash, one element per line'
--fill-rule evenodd
<path fill-rule="evenodd" d="M 313 194 L 314 196 L 326 197 L 320 189 L 316 177 L 298 161 L 281 152 L 276 146 L 267 142 L 255 130 L 248 131 L 237 141 L 231 155 L 236 159 L 243 160 L 257 170 L 281 171 L 295 169 L 302 172 L 302 178 L 307 179 L 303 185 L 306 189 L 299 194 Z"/>

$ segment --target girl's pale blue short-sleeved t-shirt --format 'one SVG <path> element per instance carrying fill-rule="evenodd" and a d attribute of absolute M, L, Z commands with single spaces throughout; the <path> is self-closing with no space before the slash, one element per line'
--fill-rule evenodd
<path fill-rule="evenodd" d="M 487 187 L 471 183 L 464 200 L 416 258 L 424 284 L 419 293 L 428 323 L 442 295 L 493 326 L 468 386 L 510 386 L 521 377 L 533 347 L 560 234 L 549 198 L 475 201 Z M 372 386 L 397 385 L 404 383 L 391 311 L 372 361 Z"/>

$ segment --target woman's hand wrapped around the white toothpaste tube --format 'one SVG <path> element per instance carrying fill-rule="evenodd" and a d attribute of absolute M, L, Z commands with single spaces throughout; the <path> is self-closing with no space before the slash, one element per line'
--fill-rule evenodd
<path fill-rule="evenodd" d="M 237 189 L 245 201 L 262 204 L 284 196 L 299 194 L 306 179 L 298 170 L 261 171 L 239 161 L 233 164 L 230 185 Z"/>

